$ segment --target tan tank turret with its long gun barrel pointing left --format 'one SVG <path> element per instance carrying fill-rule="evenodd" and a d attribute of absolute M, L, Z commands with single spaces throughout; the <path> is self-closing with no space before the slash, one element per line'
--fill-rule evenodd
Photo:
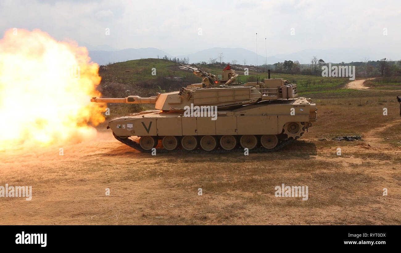
<path fill-rule="evenodd" d="M 184 110 L 185 106 L 217 106 L 229 108 L 238 105 L 254 104 L 264 100 L 290 99 L 298 96 L 297 85 L 282 79 L 265 79 L 264 82 L 247 82 L 242 86 L 223 86 L 201 88 L 190 84 L 179 91 L 168 92 L 148 98 L 128 96 L 126 98 L 92 98 L 91 102 L 155 104 L 158 110 Z"/>

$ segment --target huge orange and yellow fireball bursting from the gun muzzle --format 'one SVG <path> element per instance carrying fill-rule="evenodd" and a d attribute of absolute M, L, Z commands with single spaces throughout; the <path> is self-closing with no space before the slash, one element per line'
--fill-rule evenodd
<path fill-rule="evenodd" d="M 85 47 L 41 30 L 15 28 L 0 40 L 0 150 L 77 143 L 104 121 L 99 66 Z"/>

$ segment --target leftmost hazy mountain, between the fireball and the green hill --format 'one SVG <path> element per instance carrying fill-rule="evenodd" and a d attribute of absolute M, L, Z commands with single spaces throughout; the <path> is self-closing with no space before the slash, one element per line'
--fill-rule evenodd
<path fill-rule="evenodd" d="M 163 58 L 164 55 L 171 57 L 170 54 L 157 48 L 127 48 L 117 51 L 89 50 L 89 57 L 99 65 L 106 65 L 113 62 L 125 62 L 127 60 L 137 60 L 141 58 Z"/>

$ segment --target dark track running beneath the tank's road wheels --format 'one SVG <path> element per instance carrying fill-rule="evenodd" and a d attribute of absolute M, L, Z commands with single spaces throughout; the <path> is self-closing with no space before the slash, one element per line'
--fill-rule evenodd
<path fill-rule="evenodd" d="M 142 147 L 141 147 L 141 145 L 139 145 L 139 143 L 129 139 L 128 137 L 127 138 L 121 138 L 121 137 L 118 137 L 117 135 L 115 135 L 114 133 L 113 133 L 113 136 L 114 136 L 115 139 L 117 139 L 117 141 L 119 141 L 121 143 L 124 143 L 125 145 L 127 145 L 129 147 L 132 147 L 133 149 L 136 149 L 136 150 L 141 151 L 143 153 L 152 153 L 152 150 L 142 149 Z M 296 139 L 298 139 L 298 138 L 296 138 Z M 265 149 L 263 147 L 255 147 L 254 149 L 250 149 L 249 153 L 271 153 L 271 152 L 275 152 L 275 151 L 281 149 L 282 147 L 292 143 L 293 141 L 295 141 L 295 139 L 284 139 L 283 141 L 280 141 L 277 144 L 277 146 L 275 148 L 273 148 L 273 149 Z M 188 151 L 186 149 L 167 150 L 167 149 L 163 149 L 163 148 L 156 148 L 156 154 L 158 154 L 158 153 L 192 153 L 192 154 L 193 153 L 217 153 L 217 154 L 221 154 L 221 153 L 235 153 L 235 152 L 243 153 L 244 149 L 234 148 L 234 149 L 231 149 L 231 150 L 225 150 L 225 149 L 222 149 L 222 148 L 217 148 L 217 149 L 214 149 L 212 151 L 205 151 L 205 150 L 203 150 L 201 148 L 197 148 L 197 149 Z"/>

